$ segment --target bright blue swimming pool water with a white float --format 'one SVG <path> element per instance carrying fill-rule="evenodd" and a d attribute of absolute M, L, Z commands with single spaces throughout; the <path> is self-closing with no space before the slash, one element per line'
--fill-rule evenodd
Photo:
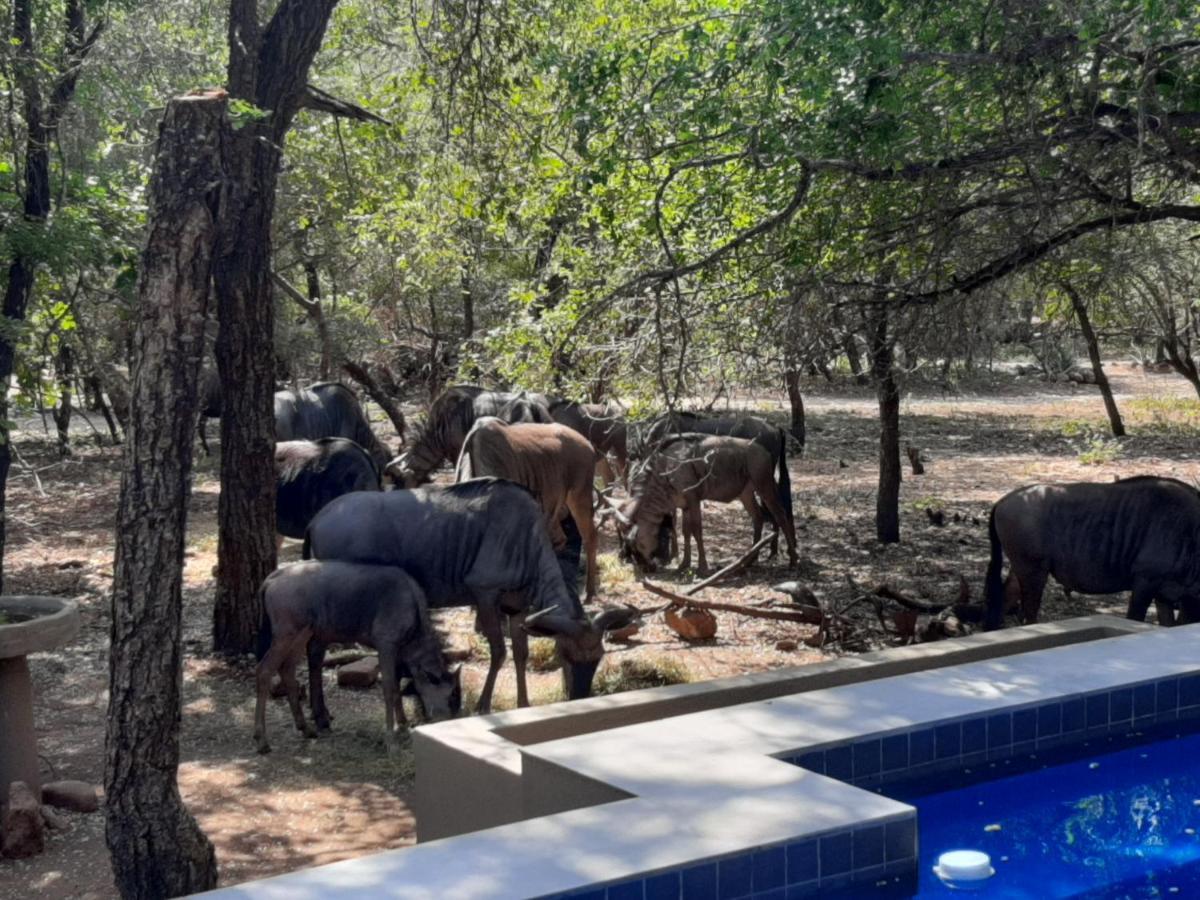
<path fill-rule="evenodd" d="M 940 792 L 888 793 L 918 809 L 920 898 L 1200 898 L 1200 734 L 1099 739 L 1074 758 L 984 763 Z M 1080 756 L 1080 752 L 1085 754 Z M 1022 767 L 1033 770 L 1013 774 Z M 932 874 L 948 850 L 982 850 L 996 875 L 954 890 Z"/>

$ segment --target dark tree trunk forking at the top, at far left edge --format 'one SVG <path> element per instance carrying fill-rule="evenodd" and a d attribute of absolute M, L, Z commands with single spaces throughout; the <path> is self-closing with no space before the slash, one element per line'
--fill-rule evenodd
<path fill-rule="evenodd" d="M 50 148 L 59 122 L 74 97 L 84 60 L 104 29 L 101 19 L 90 29 L 83 0 L 67 0 L 61 7 L 62 37 L 56 60 L 47 59 L 35 34 L 34 0 L 12 0 L 13 82 L 20 94 L 22 124 L 25 128 L 22 172 L 22 216 L 19 238 L 11 241 L 4 294 L 5 328 L 0 329 L 0 424 L 8 421 L 8 384 L 17 361 L 19 323 L 29 311 L 34 280 L 41 263 L 38 239 L 50 215 Z M 40 11 L 41 12 L 41 11 Z M 42 16 L 36 17 L 43 20 Z M 49 41 L 47 41 L 49 43 Z M 10 95 L 10 100 L 12 100 Z M 16 150 L 16 148 L 14 148 Z M 7 430 L 7 426 L 2 426 Z M 7 434 L 0 440 L 0 589 L 4 587 L 5 499 L 12 448 Z"/>

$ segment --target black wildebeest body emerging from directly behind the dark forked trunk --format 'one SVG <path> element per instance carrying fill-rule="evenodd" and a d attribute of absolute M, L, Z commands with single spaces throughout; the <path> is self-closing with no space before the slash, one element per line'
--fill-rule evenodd
<path fill-rule="evenodd" d="M 304 538 L 313 516 L 343 493 L 378 490 L 374 461 L 348 438 L 275 445 L 275 530 L 283 538 Z"/>

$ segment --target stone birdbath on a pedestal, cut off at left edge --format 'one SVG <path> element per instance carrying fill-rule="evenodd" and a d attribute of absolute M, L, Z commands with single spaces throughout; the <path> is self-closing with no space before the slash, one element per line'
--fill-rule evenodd
<path fill-rule="evenodd" d="M 79 631 L 79 607 L 56 596 L 0 596 L 0 804 L 24 781 L 37 797 L 34 685 L 26 656 L 66 643 Z"/>

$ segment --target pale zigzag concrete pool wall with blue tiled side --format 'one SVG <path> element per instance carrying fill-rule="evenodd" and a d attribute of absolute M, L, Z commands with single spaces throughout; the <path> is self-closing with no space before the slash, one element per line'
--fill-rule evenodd
<path fill-rule="evenodd" d="M 638 721 L 587 730 L 595 719 L 582 710 L 574 726 L 559 721 L 552 727 L 584 731 L 539 743 L 490 742 L 474 733 L 480 764 L 472 768 L 460 760 L 445 770 L 474 773 L 487 787 L 482 773 L 500 767 L 511 775 L 506 754 L 515 752 L 522 815 L 548 815 L 214 896 L 784 900 L 865 890 L 916 874 L 916 810 L 864 790 L 888 772 L 961 766 L 992 758 L 990 752 L 998 758 L 1090 730 L 1200 718 L 1200 625 L 1150 630 L 1090 617 L 953 644 L 924 648 L 938 650 L 932 654 L 919 653 L 923 648 L 876 654 L 890 665 L 920 655 L 935 660 L 900 674 L 864 671 L 853 683 L 809 690 L 791 684 L 786 694 L 758 685 L 769 696 L 722 707 L 691 694 L 685 703 L 709 708 L 665 718 L 643 714 L 677 689 L 662 689 L 668 697 L 650 691 L 656 700 L 641 703 L 630 695 L 630 718 Z M 989 649 L 985 658 L 983 648 Z M 955 656 L 961 653 L 974 659 L 964 662 Z M 857 668 L 841 666 L 814 677 Z M 782 673 L 784 683 L 800 671 Z M 751 690 L 746 679 L 724 680 L 734 683 L 733 696 Z M 721 682 L 713 685 L 719 692 Z M 553 709 L 466 721 L 508 734 L 514 726 L 536 722 L 546 730 L 547 720 L 574 718 L 554 716 Z M 604 706 L 590 712 L 610 720 L 618 714 Z M 428 751 L 437 745 L 433 738 L 450 732 L 456 752 L 467 754 L 472 744 L 463 745 L 462 725 L 418 733 Z M 532 731 L 518 734 L 526 739 Z M 443 802 L 469 791 L 463 781 L 443 781 L 442 787 Z M 470 805 L 511 793 L 511 785 L 492 787 Z"/>

